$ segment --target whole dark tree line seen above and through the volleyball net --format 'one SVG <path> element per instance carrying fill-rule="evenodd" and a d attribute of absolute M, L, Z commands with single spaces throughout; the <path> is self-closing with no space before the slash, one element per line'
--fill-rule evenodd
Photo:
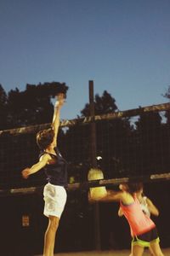
<path fill-rule="evenodd" d="M 26 125 L 50 123 L 53 115 L 52 99 L 57 92 L 66 94 L 69 87 L 63 83 L 26 84 L 26 90 L 17 88 L 5 92 L 0 85 L 0 130 Z M 164 95 L 170 98 L 170 90 Z M 95 114 L 118 111 L 116 99 L 104 90 L 94 97 Z M 90 115 L 87 103 L 78 118 Z M 169 170 L 170 130 L 169 112 L 141 113 L 131 117 L 100 120 L 96 123 L 98 166 L 105 178 L 127 177 Z M 87 179 L 92 167 L 90 158 L 90 125 L 73 125 L 59 131 L 60 150 L 69 163 L 69 176 L 74 181 Z M 10 161 L 7 160 L 10 155 Z M 23 183 L 20 170 L 37 160 L 35 134 L 0 136 L 0 175 L 7 187 Z M 15 177 L 8 179 L 8 177 Z M 37 178 L 38 177 L 38 178 Z M 27 185 L 41 184 L 42 173 L 26 181 Z"/>

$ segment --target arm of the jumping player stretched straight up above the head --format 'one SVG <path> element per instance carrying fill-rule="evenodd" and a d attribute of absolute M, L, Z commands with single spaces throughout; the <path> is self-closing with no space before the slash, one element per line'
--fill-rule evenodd
<path fill-rule="evenodd" d="M 59 93 L 56 96 L 56 102 L 54 104 L 54 116 L 52 121 L 52 127 L 54 129 L 54 147 L 57 145 L 57 136 L 59 131 L 59 118 L 60 118 L 60 108 L 63 106 L 65 102 L 65 95 L 63 93 Z"/>

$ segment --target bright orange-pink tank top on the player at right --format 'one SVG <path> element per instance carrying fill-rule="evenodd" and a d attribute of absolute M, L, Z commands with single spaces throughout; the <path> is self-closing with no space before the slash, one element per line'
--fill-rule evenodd
<path fill-rule="evenodd" d="M 124 205 L 121 201 L 120 206 L 130 226 L 131 236 L 139 236 L 152 230 L 156 224 L 144 214 L 137 197 L 134 196 L 133 199 L 132 204 Z"/>

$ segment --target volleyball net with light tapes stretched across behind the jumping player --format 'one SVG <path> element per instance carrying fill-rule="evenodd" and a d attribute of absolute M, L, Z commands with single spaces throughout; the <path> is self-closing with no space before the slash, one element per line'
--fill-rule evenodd
<path fill-rule="evenodd" d="M 129 177 L 144 182 L 170 178 L 170 103 L 63 120 L 59 149 L 68 161 L 69 189 L 117 185 Z M 87 181 L 93 167 L 91 125 L 95 124 L 95 167 L 104 179 Z M 27 180 L 21 170 L 38 160 L 37 131 L 50 124 L 0 131 L 0 195 L 34 193 L 46 183 L 42 171 Z"/>

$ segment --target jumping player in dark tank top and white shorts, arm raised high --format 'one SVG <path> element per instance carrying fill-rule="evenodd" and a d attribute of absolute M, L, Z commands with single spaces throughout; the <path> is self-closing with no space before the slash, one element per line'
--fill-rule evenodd
<path fill-rule="evenodd" d="M 48 228 L 44 236 L 43 256 L 54 255 L 54 243 L 56 231 L 59 226 L 59 218 L 65 208 L 67 186 L 67 163 L 57 148 L 57 136 L 59 131 L 60 108 L 65 102 L 65 95 L 56 96 L 54 104 L 54 117 L 52 127 L 37 133 L 37 145 L 41 149 L 38 162 L 22 171 L 24 178 L 44 169 L 48 183 L 43 189 L 44 210 L 48 217 Z"/>

